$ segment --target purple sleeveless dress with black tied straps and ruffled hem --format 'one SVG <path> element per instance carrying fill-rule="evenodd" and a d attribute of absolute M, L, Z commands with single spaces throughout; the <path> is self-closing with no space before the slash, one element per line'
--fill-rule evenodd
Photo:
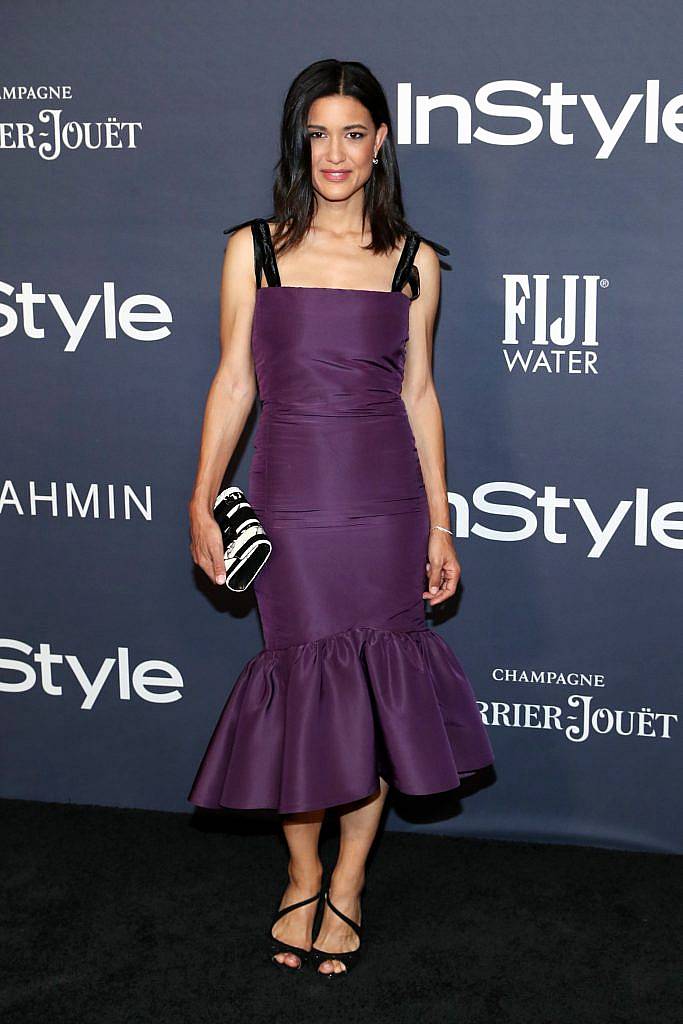
<path fill-rule="evenodd" d="M 430 519 L 400 390 L 428 240 L 408 234 L 389 292 L 307 288 L 280 284 L 267 221 L 251 228 L 261 408 L 247 497 L 272 541 L 252 585 L 264 648 L 187 799 L 287 814 L 368 797 L 378 775 L 404 794 L 454 788 L 494 755 L 422 597 Z"/>

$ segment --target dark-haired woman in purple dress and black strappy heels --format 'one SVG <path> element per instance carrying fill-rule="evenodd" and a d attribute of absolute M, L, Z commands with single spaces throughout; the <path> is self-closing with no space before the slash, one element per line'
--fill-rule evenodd
<path fill-rule="evenodd" d="M 188 799 L 282 815 L 289 884 L 271 958 L 333 978 L 360 954 L 366 859 L 389 785 L 450 790 L 493 752 L 460 663 L 425 621 L 425 599 L 447 600 L 460 578 L 431 376 L 434 250 L 447 250 L 404 219 L 386 98 L 364 65 L 321 60 L 295 79 L 273 197 L 270 220 L 229 229 L 189 502 L 194 560 L 221 584 L 213 501 L 258 383 L 247 497 L 272 541 L 254 581 L 265 646 Z M 329 807 L 341 839 L 324 884 Z"/>

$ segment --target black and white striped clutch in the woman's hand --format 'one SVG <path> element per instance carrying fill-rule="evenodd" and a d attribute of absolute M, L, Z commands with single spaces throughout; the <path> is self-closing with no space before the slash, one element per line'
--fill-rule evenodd
<path fill-rule="evenodd" d="M 221 490 L 213 514 L 223 535 L 225 586 L 246 590 L 265 565 L 272 543 L 241 487 Z"/>

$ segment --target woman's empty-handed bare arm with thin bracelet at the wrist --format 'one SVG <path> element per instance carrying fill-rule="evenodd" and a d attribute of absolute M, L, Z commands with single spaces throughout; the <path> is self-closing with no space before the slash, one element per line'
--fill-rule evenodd
<path fill-rule="evenodd" d="M 415 262 L 420 271 L 420 296 L 411 303 L 411 337 L 405 349 L 401 398 L 420 458 L 430 524 L 450 528 L 443 418 L 431 369 L 440 267 L 438 256 L 426 244 L 420 246 Z M 430 529 L 426 570 L 429 590 L 422 596 L 429 598 L 430 605 L 455 594 L 460 564 L 452 537 L 441 529 Z"/>

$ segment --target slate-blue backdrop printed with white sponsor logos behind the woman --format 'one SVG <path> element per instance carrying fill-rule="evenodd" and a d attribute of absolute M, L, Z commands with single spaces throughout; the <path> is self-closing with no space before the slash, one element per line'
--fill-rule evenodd
<path fill-rule="evenodd" d="M 194 811 L 262 646 L 188 547 L 223 228 L 271 212 L 287 88 L 335 56 L 382 82 L 409 220 L 451 250 L 463 574 L 430 624 L 496 753 L 387 827 L 683 852 L 683 14 L 655 13 L 5 5 L 1 796 Z"/>

